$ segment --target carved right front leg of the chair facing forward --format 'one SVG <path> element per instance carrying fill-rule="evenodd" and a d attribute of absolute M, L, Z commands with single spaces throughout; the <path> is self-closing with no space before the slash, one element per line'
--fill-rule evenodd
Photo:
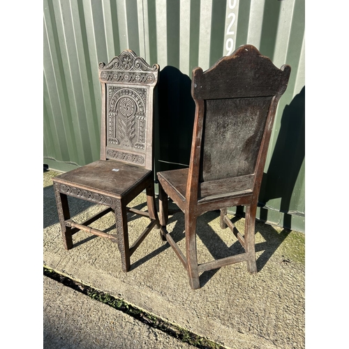
<path fill-rule="evenodd" d="M 117 246 L 121 254 L 121 266 L 123 272 L 130 270 L 130 248 L 128 244 L 128 226 L 126 205 L 121 200 L 117 200 L 114 207 L 115 223 L 117 226 Z"/>

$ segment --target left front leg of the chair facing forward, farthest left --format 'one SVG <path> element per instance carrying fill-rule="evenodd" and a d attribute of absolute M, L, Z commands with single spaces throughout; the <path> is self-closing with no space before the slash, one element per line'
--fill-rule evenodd
<path fill-rule="evenodd" d="M 59 184 L 56 182 L 54 182 L 54 196 L 56 198 L 64 248 L 66 248 L 66 250 L 69 250 L 70 248 L 73 248 L 73 237 L 71 233 L 71 227 L 66 225 L 66 220 L 70 219 L 68 197 L 66 194 L 60 193 Z"/>

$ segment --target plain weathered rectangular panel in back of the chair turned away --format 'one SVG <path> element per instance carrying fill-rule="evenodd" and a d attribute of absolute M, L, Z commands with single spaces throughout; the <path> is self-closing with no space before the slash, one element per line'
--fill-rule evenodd
<path fill-rule="evenodd" d="M 272 97 L 205 101 L 200 181 L 253 174 Z"/>

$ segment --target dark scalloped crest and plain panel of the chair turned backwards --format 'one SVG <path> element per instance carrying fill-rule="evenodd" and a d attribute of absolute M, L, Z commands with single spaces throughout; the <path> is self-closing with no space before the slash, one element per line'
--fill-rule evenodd
<path fill-rule="evenodd" d="M 197 154 L 200 182 L 253 179 L 256 165 L 263 166 L 257 161 L 263 153 L 260 145 L 263 136 L 264 146 L 269 143 L 276 104 L 289 75 L 289 66 L 276 68 L 252 45 L 223 57 L 205 73 L 201 68 L 193 70 L 192 95 L 203 118 Z"/>

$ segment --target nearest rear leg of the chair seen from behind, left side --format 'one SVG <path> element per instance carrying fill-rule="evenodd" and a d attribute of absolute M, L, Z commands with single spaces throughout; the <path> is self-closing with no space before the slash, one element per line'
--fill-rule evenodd
<path fill-rule="evenodd" d="M 185 215 L 186 230 L 186 260 L 189 283 L 193 290 L 200 288 L 198 257 L 196 251 L 196 220 L 191 214 Z"/>

